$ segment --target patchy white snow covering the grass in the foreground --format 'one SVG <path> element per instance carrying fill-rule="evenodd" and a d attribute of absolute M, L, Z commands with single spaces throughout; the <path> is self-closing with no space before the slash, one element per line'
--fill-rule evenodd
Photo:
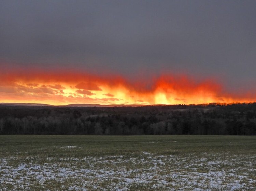
<path fill-rule="evenodd" d="M 46 163 L 31 160 L 16 167 L 9 164 L 12 159 L 0 158 L 0 190 L 31 190 L 34 185 L 47 190 L 47 185 L 58 183 L 66 190 L 83 191 L 125 191 L 134 185 L 155 190 L 253 190 L 256 185 L 250 176 L 256 172 L 256 161 L 246 162 L 239 157 L 213 160 L 141 152 L 134 158 L 47 158 Z"/>

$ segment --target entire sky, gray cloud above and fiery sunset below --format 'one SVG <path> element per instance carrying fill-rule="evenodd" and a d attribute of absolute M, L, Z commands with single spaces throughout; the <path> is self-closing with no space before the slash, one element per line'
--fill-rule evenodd
<path fill-rule="evenodd" d="M 256 1 L 0 1 L 0 102 L 256 101 Z"/>

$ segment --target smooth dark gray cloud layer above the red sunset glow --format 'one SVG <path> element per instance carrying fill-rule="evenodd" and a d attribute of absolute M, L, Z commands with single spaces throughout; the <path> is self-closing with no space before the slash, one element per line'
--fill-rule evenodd
<path fill-rule="evenodd" d="M 0 2 L 0 59 L 255 79 L 256 1 Z"/>

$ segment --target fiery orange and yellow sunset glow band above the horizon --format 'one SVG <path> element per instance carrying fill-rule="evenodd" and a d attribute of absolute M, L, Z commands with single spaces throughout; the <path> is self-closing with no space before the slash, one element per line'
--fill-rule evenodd
<path fill-rule="evenodd" d="M 150 79 L 150 78 L 148 78 Z M 3 103 L 86 104 L 202 104 L 254 102 L 255 94 L 225 92 L 222 84 L 187 75 L 165 74 L 129 81 L 120 75 L 86 72 L 8 70 L 0 76 Z M 145 85 L 147 84 L 147 85 Z M 148 85 L 150 84 L 150 85 Z"/>

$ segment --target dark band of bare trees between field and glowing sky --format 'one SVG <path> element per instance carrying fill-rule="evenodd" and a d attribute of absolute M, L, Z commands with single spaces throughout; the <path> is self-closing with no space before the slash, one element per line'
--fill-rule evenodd
<path fill-rule="evenodd" d="M 0 134 L 256 135 L 256 103 L 141 107 L 0 105 Z"/>

